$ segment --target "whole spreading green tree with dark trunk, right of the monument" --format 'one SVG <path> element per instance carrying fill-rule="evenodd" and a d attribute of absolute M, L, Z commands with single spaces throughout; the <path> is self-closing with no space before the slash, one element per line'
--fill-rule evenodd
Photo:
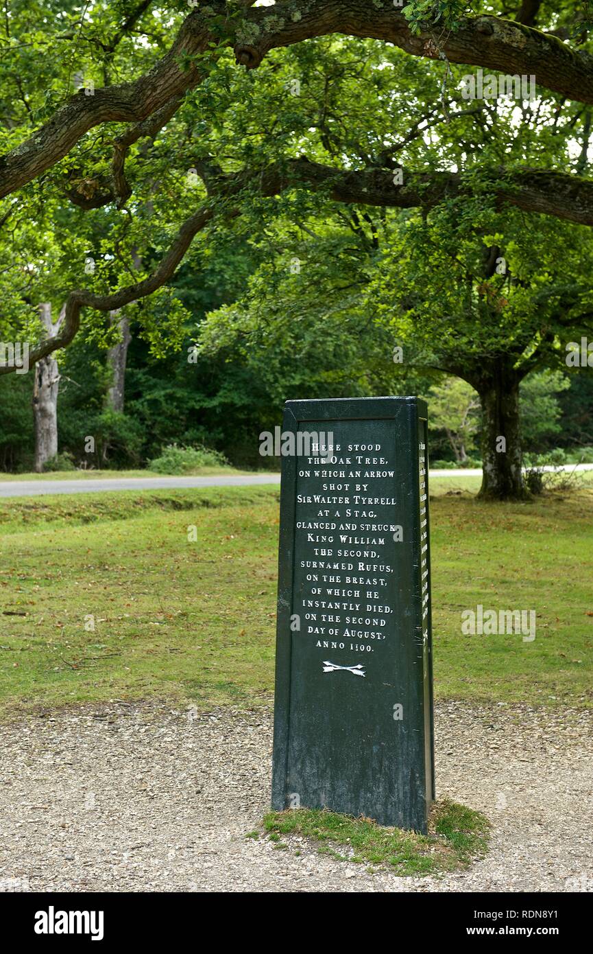
<path fill-rule="evenodd" d="M 361 366 L 373 368 L 379 393 L 400 387 L 387 367 L 455 375 L 481 399 L 481 495 L 521 497 L 520 384 L 538 368 L 562 366 L 567 329 L 592 326 L 587 234 L 543 218 L 530 219 L 527 228 L 520 214 L 493 209 L 487 194 L 427 219 L 367 222 L 349 211 L 352 218 L 342 214 L 330 225 L 329 208 L 316 212 L 301 203 L 299 214 L 308 218 L 300 234 L 282 218 L 274 229 L 268 220 L 262 243 L 272 240 L 274 265 L 268 259 L 258 269 L 243 301 L 209 317 L 201 341 L 211 353 L 259 354 L 261 373 L 276 375 L 278 401 L 294 396 L 287 392 L 295 372 L 276 374 L 283 345 L 300 358 L 303 326 L 321 342 L 335 321 L 351 379 Z M 297 256 L 300 272 L 292 275 Z M 364 335 L 364 347 L 354 353 L 353 321 Z M 395 365 L 394 347 L 401 351 Z M 322 346 L 319 355 L 328 361 Z M 308 368 L 319 393 L 317 367 L 315 356 L 298 362 L 301 377 Z M 337 395 L 336 379 L 334 386 Z"/>

